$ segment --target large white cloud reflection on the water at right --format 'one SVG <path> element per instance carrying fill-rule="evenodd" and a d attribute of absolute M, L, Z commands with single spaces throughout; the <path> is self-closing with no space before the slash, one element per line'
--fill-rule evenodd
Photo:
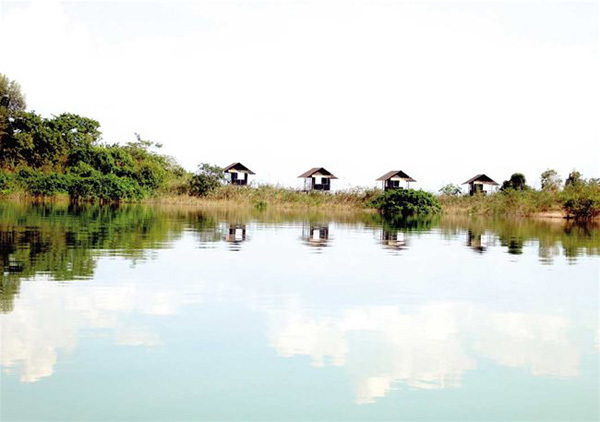
<path fill-rule="evenodd" d="M 281 315 L 276 319 L 281 320 Z M 459 388 L 479 359 L 534 376 L 572 378 L 582 353 L 562 315 L 489 311 L 465 303 L 347 309 L 335 317 L 286 315 L 274 323 L 271 343 L 283 357 L 306 355 L 317 367 L 347 366 L 356 403 L 373 403 L 395 385 Z M 368 344 L 357 341 L 368 339 Z M 470 341 L 469 337 L 477 341 Z"/>

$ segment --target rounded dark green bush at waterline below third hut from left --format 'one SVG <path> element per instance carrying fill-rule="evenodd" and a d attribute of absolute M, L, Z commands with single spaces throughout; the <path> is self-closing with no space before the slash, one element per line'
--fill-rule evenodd
<path fill-rule="evenodd" d="M 386 218 L 434 215 L 442 211 L 436 197 L 429 192 L 414 189 L 388 190 L 375 198 L 371 206 Z"/>

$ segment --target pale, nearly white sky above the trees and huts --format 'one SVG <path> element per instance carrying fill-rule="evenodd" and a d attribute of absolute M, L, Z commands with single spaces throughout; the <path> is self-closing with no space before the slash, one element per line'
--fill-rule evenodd
<path fill-rule="evenodd" d="M 188 170 L 539 187 L 548 168 L 600 176 L 598 3 L 0 0 L 0 73 L 28 109 L 139 133 Z"/>

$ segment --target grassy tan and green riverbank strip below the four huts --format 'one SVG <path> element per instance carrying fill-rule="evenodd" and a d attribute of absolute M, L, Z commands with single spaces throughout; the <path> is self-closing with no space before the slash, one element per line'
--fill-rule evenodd
<path fill-rule="evenodd" d="M 272 185 L 259 187 L 220 186 L 205 196 L 187 194 L 158 193 L 139 200 L 122 200 L 122 203 L 141 203 L 154 206 L 201 206 L 212 208 L 243 207 L 264 211 L 297 210 L 319 212 L 375 212 L 371 206 L 381 195 L 380 189 L 356 188 L 347 191 L 302 192 Z M 585 190 L 575 193 L 544 191 L 509 191 L 493 195 L 449 196 L 437 195 L 442 213 L 456 216 L 489 216 L 510 218 L 574 218 L 573 211 L 588 215 L 588 220 L 599 220 L 600 206 L 598 190 Z M 25 192 L 12 192 L 0 195 L 0 200 L 16 202 L 69 202 L 69 196 L 57 193 L 52 196 L 32 196 Z M 570 204 L 570 208 L 567 207 Z M 583 209 L 582 208 L 586 208 Z M 589 209 L 588 209 L 589 208 Z M 587 214 L 585 214 L 587 213 Z"/>

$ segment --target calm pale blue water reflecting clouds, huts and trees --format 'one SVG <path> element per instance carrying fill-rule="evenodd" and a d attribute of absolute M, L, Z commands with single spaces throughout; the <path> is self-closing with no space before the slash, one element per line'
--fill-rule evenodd
<path fill-rule="evenodd" d="M 600 229 L 0 204 L 9 420 L 598 420 Z"/>

